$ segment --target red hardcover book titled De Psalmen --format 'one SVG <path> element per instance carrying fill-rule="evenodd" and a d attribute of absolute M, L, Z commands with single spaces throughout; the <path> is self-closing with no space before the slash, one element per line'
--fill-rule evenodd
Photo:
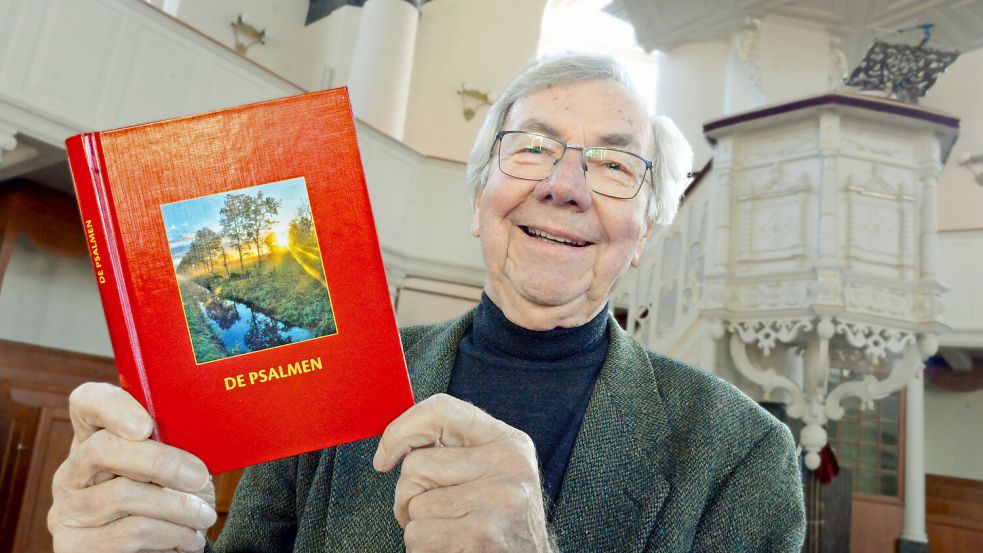
<path fill-rule="evenodd" d="M 69 138 L 122 387 L 212 473 L 413 403 L 344 89 Z"/>

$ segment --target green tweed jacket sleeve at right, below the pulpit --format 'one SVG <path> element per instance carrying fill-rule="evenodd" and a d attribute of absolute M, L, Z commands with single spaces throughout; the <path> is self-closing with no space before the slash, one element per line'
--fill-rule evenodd
<path fill-rule="evenodd" d="M 798 553 L 805 540 L 802 474 L 785 425 L 766 432 L 703 513 L 692 551 Z"/>

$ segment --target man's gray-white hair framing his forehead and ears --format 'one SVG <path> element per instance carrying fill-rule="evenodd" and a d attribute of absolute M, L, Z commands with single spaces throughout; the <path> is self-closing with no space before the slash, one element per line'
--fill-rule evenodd
<path fill-rule="evenodd" d="M 540 59 L 505 87 L 502 95 L 489 108 L 468 156 L 466 186 L 472 206 L 478 192 L 488 182 L 495 135 L 504 130 L 502 125 L 512 106 L 519 99 L 548 86 L 597 79 L 610 79 L 621 84 L 640 105 L 645 106 L 625 69 L 611 57 L 594 54 L 561 54 Z M 653 148 L 642 154 L 651 156 L 653 165 L 653 182 L 650 183 L 653 189 L 649 195 L 647 217 L 649 221 L 668 225 L 676 216 L 679 199 L 686 189 L 693 150 L 672 119 L 657 115 L 650 116 L 650 121 Z"/>

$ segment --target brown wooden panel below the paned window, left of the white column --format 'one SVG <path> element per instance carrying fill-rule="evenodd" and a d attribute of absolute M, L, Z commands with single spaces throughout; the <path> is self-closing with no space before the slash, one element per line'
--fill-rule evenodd
<path fill-rule="evenodd" d="M 904 506 L 901 502 L 897 499 L 854 494 L 852 508 L 850 553 L 887 553 L 897 550 L 897 541 L 904 527 Z"/>

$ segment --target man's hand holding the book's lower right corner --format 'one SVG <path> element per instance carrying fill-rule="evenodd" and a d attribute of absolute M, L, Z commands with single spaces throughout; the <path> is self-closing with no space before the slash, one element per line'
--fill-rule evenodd
<path fill-rule="evenodd" d="M 439 394 L 383 433 L 375 469 L 400 461 L 393 511 L 408 553 L 550 551 L 536 447 L 525 433 Z"/>

